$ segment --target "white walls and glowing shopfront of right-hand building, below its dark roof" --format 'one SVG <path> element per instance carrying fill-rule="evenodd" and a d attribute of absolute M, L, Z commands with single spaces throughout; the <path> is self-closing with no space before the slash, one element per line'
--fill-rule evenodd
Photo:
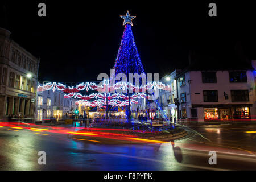
<path fill-rule="evenodd" d="M 255 70 L 187 70 L 176 76 L 183 121 L 256 119 Z"/>

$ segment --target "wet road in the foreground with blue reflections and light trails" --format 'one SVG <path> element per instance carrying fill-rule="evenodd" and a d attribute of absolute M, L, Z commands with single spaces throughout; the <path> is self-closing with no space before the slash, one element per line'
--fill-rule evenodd
<path fill-rule="evenodd" d="M 18 126 L 17 126 L 18 127 Z M 5 170 L 194 170 L 256 169 L 255 126 L 194 128 L 212 143 L 188 131 L 187 137 L 171 142 L 129 144 L 117 139 L 87 136 L 71 139 L 36 126 L 39 132 L 0 127 L 0 160 Z M 63 129 L 67 129 L 63 127 Z M 68 128 L 76 131 L 75 128 Z M 249 131 L 249 132 L 248 132 Z M 253 132 L 254 131 L 254 132 Z M 90 140 L 90 141 L 88 141 Z M 109 144 L 111 143 L 111 144 Z M 46 151 L 46 165 L 38 164 L 38 151 Z M 217 165 L 210 166 L 208 152 L 217 152 Z"/>

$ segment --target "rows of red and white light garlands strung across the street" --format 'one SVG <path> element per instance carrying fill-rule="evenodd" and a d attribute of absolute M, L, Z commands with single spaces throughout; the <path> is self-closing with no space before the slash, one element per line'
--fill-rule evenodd
<path fill-rule="evenodd" d="M 83 82 L 74 86 L 65 86 L 64 84 L 57 83 L 57 82 L 47 82 L 46 84 L 40 85 L 38 84 L 38 92 L 43 92 L 46 90 L 59 90 L 61 92 L 65 92 L 68 94 L 64 95 L 64 98 L 79 98 L 79 101 L 76 101 L 76 104 L 81 104 L 89 107 L 105 107 L 106 105 L 106 95 L 108 94 L 108 105 L 112 105 L 114 107 L 116 106 L 126 106 L 129 105 L 129 96 L 119 93 L 122 90 L 133 90 L 135 92 L 130 96 L 130 104 L 138 104 L 138 101 L 135 99 L 140 98 L 150 98 L 150 95 L 147 95 L 146 92 L 149 90 L 156 90 L 156 89 L 162 89 L 166 91 L 171 91 L 170 85 L 162 84 L 161 82 L 150 82 L 143 86 L 135 86 L 131 83 L 126 82 L 117 82 L 116 84 L 110 85 L 109 80 L 104 80 L 102 85 L 98 85 L 94 82 Z M 82 90 L 86 90 L 88 92 L 90 90 L 97 90 L 101 93 L 92 93 L 89 96 L 82 96 L 82 94 L 77 93 Z M 109 93 L 112 91 L 116 91 L 118 93 Z M 129 92 L 129 91 L 127 91 Z M 103 94 L 102 94 L 103 93 Z M 104 94 L 105 93 L 105 94 Z M 90 99 L 94 99 L 94 101 L 88 101 Z M 119 99 L 125 100 L 121 101 Z"/>

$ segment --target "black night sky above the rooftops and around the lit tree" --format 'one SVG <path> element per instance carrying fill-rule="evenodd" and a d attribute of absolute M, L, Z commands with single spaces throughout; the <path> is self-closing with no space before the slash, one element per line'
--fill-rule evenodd
<path fill-rule="evenodd" d="M 40 2 L 46 3 L 46 18 L 38 16 Z M 175 68 L 184 68 L 189 51 L 204 55 L 209 65 L 214 64 L 211 60 L 243 65 L 256 59 L 256 13 L 252 4 L 86 2 L 1 2 L 1 27 L 7 27 L 15 42 L 41 58 L 38 80 L 96 81 L 99 73 L 109 74 L 124 28 L 119 15 L 127 10 L 137 16 L 133 35 L 147 73 L 164 76 Z M 217 4 L 217 17 L 208 16 L 210 2 Z"/>

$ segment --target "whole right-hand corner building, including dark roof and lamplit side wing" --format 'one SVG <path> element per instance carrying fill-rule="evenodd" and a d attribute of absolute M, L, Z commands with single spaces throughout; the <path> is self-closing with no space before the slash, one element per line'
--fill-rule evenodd
<path fill-rule="evenodd" d="M 159 103 L 170 120 L 192 122 L 256 121 L 256 60 L 237 68 L 189 65 L 162 78 L 171 92 Z"/>

